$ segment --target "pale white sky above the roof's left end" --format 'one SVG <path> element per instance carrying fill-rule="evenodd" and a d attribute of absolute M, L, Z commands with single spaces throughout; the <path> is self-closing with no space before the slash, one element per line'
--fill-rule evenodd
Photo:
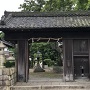
<path fill-rule="evenodd" d="M 24 0 L 0 0 L 0 19 L 4 11 L 21 11 L 18 9 Z"/>

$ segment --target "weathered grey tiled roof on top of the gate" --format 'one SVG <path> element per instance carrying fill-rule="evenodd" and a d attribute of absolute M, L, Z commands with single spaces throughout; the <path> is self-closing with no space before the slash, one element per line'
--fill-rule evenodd
<path fill-rule="evenodd" d="M 0 29 L 4 28 L 90 27 L 90 11 L 85 12 L 5 12 Z"/>

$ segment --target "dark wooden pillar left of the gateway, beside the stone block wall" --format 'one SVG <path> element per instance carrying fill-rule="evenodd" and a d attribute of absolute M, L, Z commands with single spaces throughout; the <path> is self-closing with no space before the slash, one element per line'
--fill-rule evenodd
<path fill-rule="evenodd" d="M 28 40 L 18 40 L 17 81 L 28 81 Z"/>

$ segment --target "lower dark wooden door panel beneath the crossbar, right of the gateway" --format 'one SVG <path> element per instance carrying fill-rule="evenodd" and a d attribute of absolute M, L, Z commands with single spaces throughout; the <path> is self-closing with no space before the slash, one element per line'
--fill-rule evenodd
<path fill-rule="evenodd" d="M 75 78 L 88 77 L 89 75 L 89 58 L 75 57 L 74 58 L 74 74 Z"/>

